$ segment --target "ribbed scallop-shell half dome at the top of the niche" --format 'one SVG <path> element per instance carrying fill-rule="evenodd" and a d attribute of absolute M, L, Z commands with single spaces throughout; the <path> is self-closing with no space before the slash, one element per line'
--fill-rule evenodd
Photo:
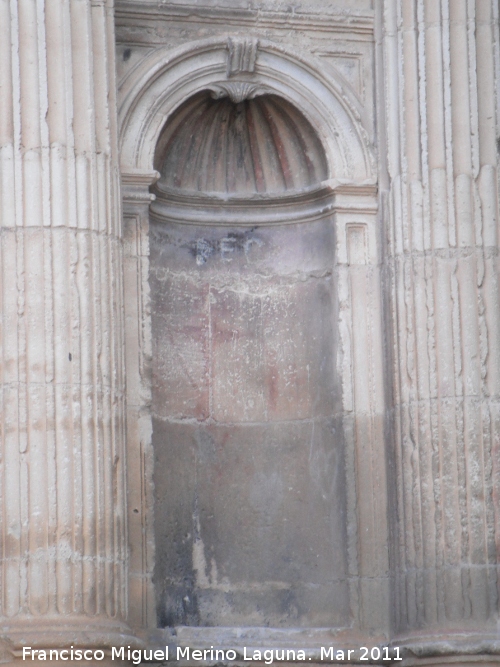
<path fill-rule="evenodd" d="M 276 95 L 189 99 L 162 133 L 156 168 L 160 190 L 189 192 L 283 193 L 328 178 L 313 127 Z"/>

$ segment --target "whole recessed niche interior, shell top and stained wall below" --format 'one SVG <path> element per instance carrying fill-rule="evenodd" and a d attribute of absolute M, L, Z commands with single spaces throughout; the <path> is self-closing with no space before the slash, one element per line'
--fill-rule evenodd
<path fill-rule="evenodd" d="M 345 627 L 327 160 L 285 99 L 187 100 L 150 214 L 160 626 Z"/>

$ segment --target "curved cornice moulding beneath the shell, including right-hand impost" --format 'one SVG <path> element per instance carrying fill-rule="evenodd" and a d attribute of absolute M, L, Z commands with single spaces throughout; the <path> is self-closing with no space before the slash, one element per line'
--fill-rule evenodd
<path fill-rule="evenodd" d="M 163 222 L 190 225 L 255 226 L 312 222 L 342 210 L 374 213 L 377 187 L 335 181 L 284 195 L 220 196 L 155 189 L 151 213 Z"/>

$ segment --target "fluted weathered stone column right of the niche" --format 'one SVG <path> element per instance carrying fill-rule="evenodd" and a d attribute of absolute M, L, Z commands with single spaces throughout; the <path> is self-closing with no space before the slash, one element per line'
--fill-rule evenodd
<path fill-rule="evenodd" d="M 453 653 L 499 607 L 498 3 L 385 0 L 383 20 L 395 641 Z"/>

